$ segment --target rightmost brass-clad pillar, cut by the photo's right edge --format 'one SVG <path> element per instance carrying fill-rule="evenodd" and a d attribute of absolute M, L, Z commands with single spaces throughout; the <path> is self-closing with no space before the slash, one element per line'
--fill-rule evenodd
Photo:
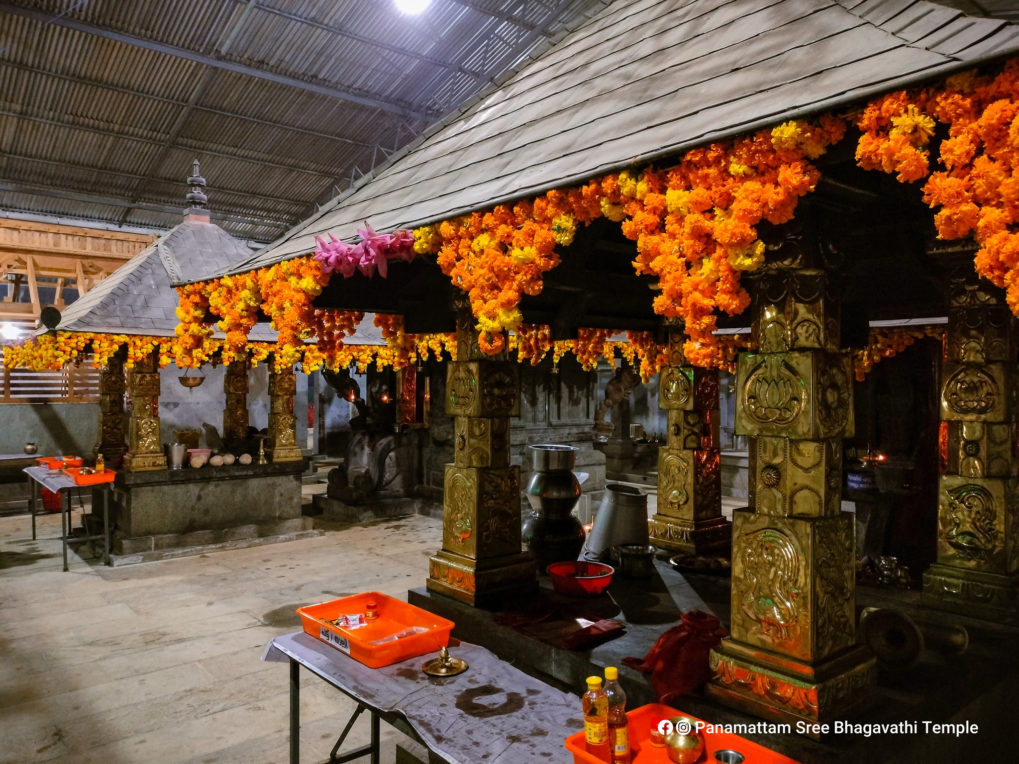
<path fill-rule="evenodd" d="M 923 574 L 922 601 L 979 618 L 1015 620 L 1019 327 L 1005 292 L 977 277 L 972 253 L 964 258 L 948 263 L 937 561 Z"/>

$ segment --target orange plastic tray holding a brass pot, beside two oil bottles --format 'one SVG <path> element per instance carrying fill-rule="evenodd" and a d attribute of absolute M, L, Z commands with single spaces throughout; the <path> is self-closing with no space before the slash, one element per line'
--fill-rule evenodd
<path fill-rule="evenodd" d="M 577 705 L 580 705 L 579 700 Z M 659 703 L 641 706 L 627 713 L 627 719 L 630 721 L 632 764 L 672 764 L 666 750 L 652 746 L 650 738 L 651 724 L 657 724 L 662 719 L 668 719 L 673 716 L 686 716 L 700 721 L 696 716 L 691 716 L 685 711 L 677 711 L 675 708 Z M 727 749 L 743 754 L 745 764 L 798 764 L 787 756 L 758 746 L 756 743 L 751 743 L 738 734 L 702 730 L 700 735 L 704 739 L 704 753 L 697 760 L 697 764 L 715 764 L 714 752 Z M 567 751 L 573 754 L 574 764 L 605 764 L 602 759 L 596 758 L 585 750 L 584 732 L 577 732 L 567 738 Z"/>

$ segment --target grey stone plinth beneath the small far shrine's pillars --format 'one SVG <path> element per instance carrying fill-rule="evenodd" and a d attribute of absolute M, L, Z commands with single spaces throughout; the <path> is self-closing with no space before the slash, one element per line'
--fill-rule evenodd
<path fill-rule="evenodd" d="M 118 473 L 110 503 L 111 522 L 116 517 L 113 553 L 146 555 L 315 533 L 311 517 L 301 513 L 302 472 L 303 462 L 294 461 Z M 167 555 L 138 561 L 161 556 Z"/>

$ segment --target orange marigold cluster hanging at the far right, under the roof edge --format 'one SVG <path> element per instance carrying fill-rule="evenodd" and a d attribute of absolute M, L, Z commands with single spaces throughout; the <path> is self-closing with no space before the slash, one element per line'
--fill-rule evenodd
<path fill-rule="evenodd" d="M 935 120 L 949 125 L 930 173 L 924 148 Z M 937 212 L 938 238 L 972 235 L 976 272 L 1006 289 L 1019 315 L 1019 59 L 996 76 L 965 72 L 943 84 L 900 91 L 867 105 L 858 125 L 861 167 L 897 172 L 912 182 L 929 177 L 923 200 Z"/>

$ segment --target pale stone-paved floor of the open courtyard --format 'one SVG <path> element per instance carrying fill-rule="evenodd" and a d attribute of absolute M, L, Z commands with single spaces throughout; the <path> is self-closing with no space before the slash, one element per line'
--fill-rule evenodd
<path fill-rule="evenodd" d="M 287 667 L 262 648 L 300 629 L 301 605 L 406 599 L 441 542 L 423 516 L 318 525 L 325 536 L 117 568 L 73 555 L 63 572 L 59 515 L 39 519 L 38 541 L 28 516 L 0 517 L 0 764 L 285 762 Z M 302 760 L 321 762 L 355 705 L 302 675 Z M 393 762 L 407 739 L 382 729 Z M 367 717 L 348 741 L 367 743 Z"/>

